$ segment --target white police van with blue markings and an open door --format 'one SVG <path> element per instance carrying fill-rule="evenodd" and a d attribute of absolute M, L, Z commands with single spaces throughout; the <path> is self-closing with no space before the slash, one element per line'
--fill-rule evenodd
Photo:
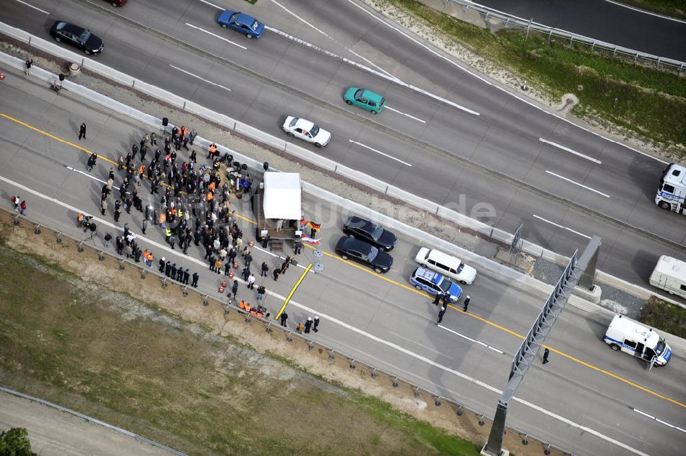
<path fill-rule="evenodd" d="M 672 357 L 672 348 L 653 328 L 624 315 L 615 315 L 603 340 L 613 350 L 622 350 L 648 362 L 655 358 L 657 365 L 667 364 Z"/>

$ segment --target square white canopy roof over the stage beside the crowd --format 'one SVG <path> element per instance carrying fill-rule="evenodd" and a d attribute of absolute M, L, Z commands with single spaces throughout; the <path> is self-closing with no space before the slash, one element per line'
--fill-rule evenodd
<path fill-rule="evenodd" d="M 300 173 L 264 173 L 264 217 L 300 220 Z"/>

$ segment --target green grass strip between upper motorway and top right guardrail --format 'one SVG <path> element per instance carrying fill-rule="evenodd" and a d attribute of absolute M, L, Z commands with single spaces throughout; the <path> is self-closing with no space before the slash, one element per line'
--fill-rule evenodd
<path fill-rule="evenodd" d="M 489 60 L 507 67 L 551 97 L 573 93 L 574 114 L 610 121 L 686 154 L 686 80 L 618 58 L 590 52 L 586 45 L 505 29 L 488 30 L 433 10 L 415 0 L 388 0 L 438 27 Z"/>

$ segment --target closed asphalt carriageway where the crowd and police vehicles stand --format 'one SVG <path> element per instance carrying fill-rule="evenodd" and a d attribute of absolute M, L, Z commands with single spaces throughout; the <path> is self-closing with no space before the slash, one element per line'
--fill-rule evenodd
<path fill-rule="evenodd" d="M 55 95 L 21 73 L 9 73 L 2 85 L 5 114 L 41 131 L 0 119 L 5 132 L 0 154 L 0 204 L 9 207 L 10 195 L 19 193 L 29 201 L 29 217 L 73 237 L 83 237 L 75 223 L 75 211 L 98 213 L 102 182 L 96 179 L 106 179 L 111 166 L 106 160 L 115 160 L 147 129 L 69 93 Z M 88 139 L 79 142 L 78 125 L 83 119 L 88 119 Z M 78 143 L 86 151 L 47 134 Z M 88 173 L 85 162 L 91 150 L 97 150 L 100 158 Z M 121 176 L 117 175 L 115 185 L 119 182 Z M 147 183 L 143 184 L 144 204 L 147 190 Z M 327 207 L 309 198 L 303 202 L 305 208 L 315 204 Z M 233 200 L 233 206 L 246 217 L 241 224 L 249 233 L 252 225 L 247 199 Z M 332 253 L 342 235 L 338 226 L 344 217 L 336 208 L 322 213 L 324 269 L 310 273 L 296 291 L 287 308 L 290 328 L 307 316 L 320 315 L 322 324 L 319 333 L 311 334 L 314 339 L 492 415 L 514 350 L 521 343 L 517 335 L 528 331 L 545 296 L 524 289 L 519 280 L 480 270 L 475 283 L 465 287 L 472 298 L 469 313 L 455 304 L 442 325 L 436 326 L 436 307 L 407 285 L 407 277 L 416 267 L 411 259 L 419 242 L 401 237 L 392 251 L 392 270 L 379 276 Z M 123 213 L 119 224 L 113 224 L 110 210 L 106 217 L 97 217 L 98 234 L 108 230 L 119 234 L 115 228 L 126 222 L 139 232 L 141 214 Z M 102 247 L 97 236 L 86 241 Z M 199 290 L 221 298 L 217 287 L 224 277 L 206 269 L 200 248 L 191 248 L 188 256 L 178 249 L 171 251 L 158 228 L 150 228 L 145 236 L 139 233 L 139 241 L 141 248 L 151 248 L 156 259 L 165 256 L 199 270 Z M 257 246 L 253 256 L 254 265 L 267 261 L 274 267 L 281 263 Z M 309 248 L 298 256 L 300 265 L 311 261 L 316 257 Z M 281 306 L 301 271 L 299 266 L 292 266 L 278 282 L 260 278 L 258 285 L 265 283 L 270 291 L 265 301 L 270 311 Z M 249 293 L 241 285 L 239 299 L 252 300 Z M 677 352 L 666 368 L 649 371 L 645 363 L 617 354 L 601 341 L 606 324 L 594 313 L 565 309 L 546 341 L 553 351 L 551 362 L 543 366 L 536 361 L 532 366 L 510 405 L 508 424 L 576 455 L 626 455 L 627 446 L 630 454 L 678 454 L 678 448 L 686 444 L 684 433 L 633 409 L 684 429 L 686 359 Z"/>

